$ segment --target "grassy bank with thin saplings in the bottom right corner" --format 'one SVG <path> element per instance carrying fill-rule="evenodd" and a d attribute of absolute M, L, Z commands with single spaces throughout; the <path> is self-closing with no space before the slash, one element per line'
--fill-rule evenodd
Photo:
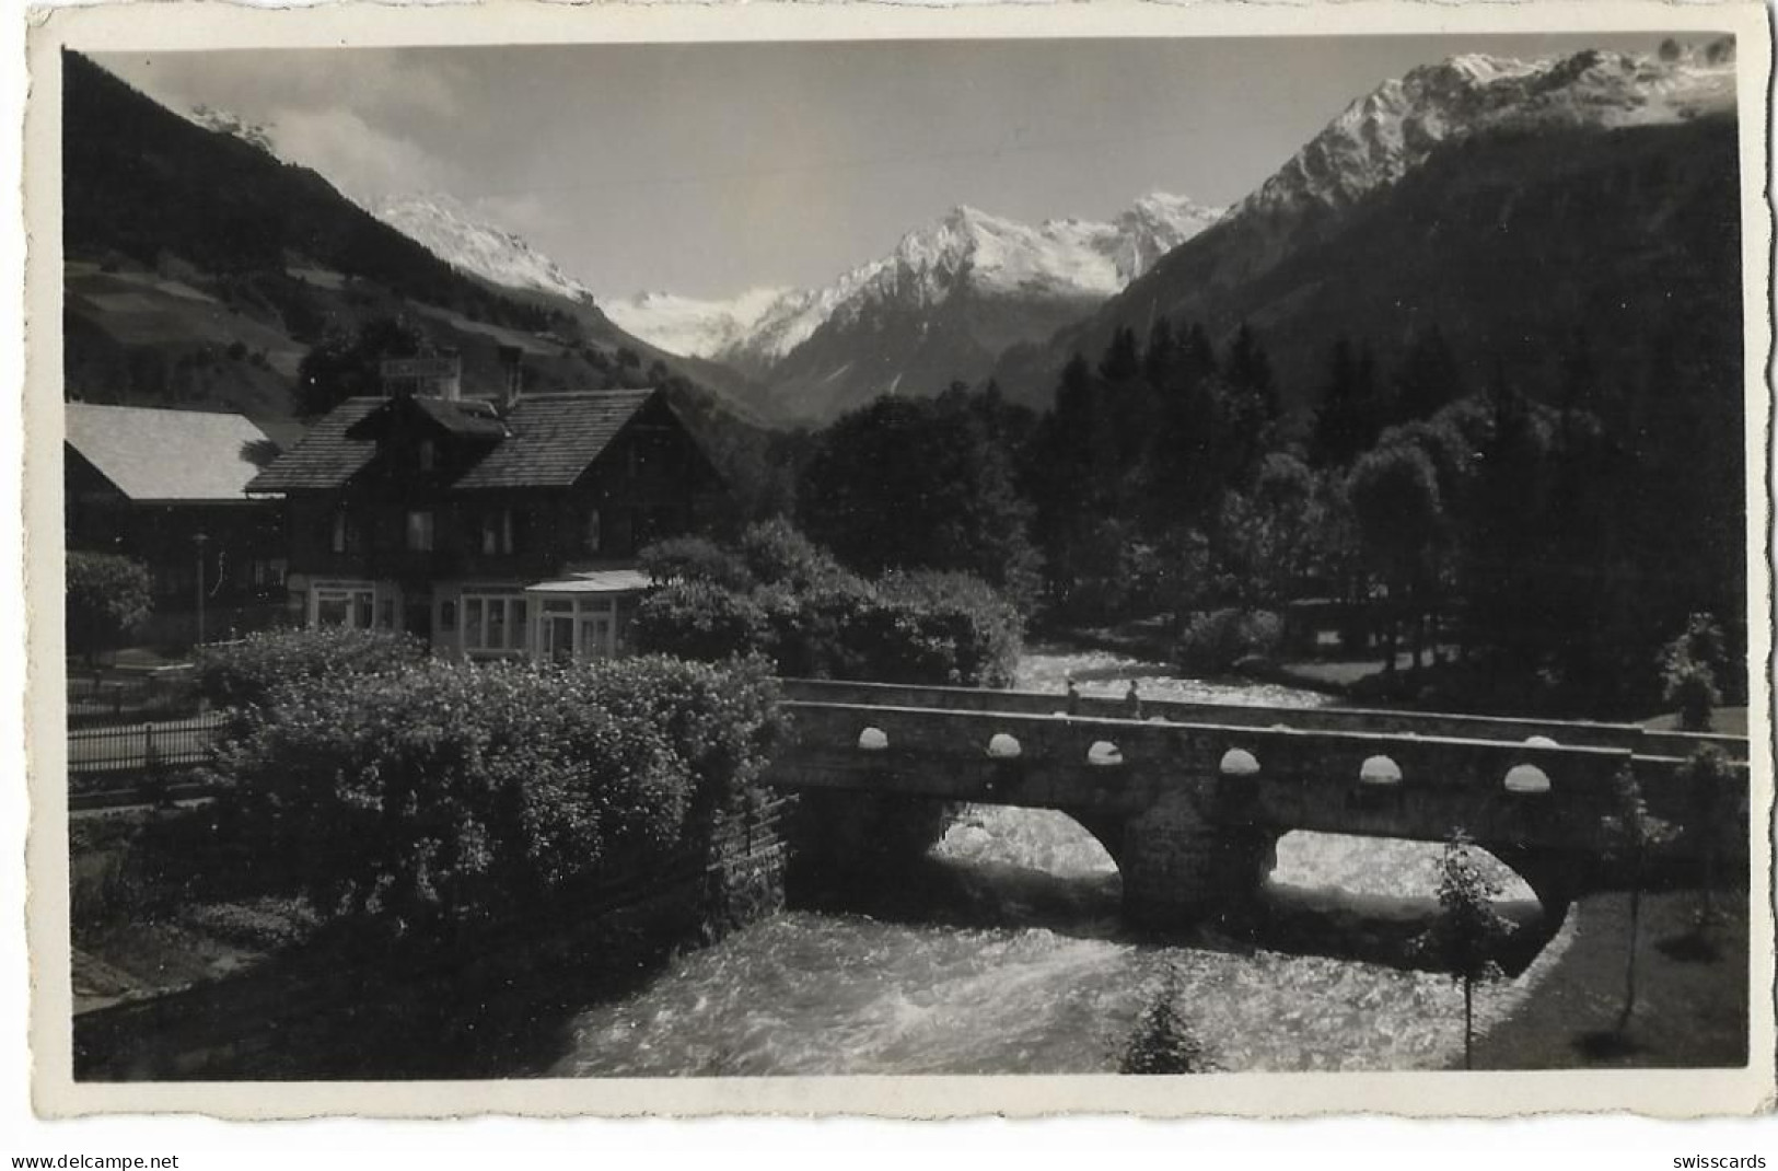
<path fill-rule="evenodd" d="M 1575 902 L 1574 941 L 1536 991 L 1476 1041 L 1478 1070 L 1721 1068 L 1748 1061 L 1748 904 L 1721 893 L 1696 947 L 1696 892 L 1643 897 L 1636 1014 L 1623 1009 L 1629 895 Z M 1483 991 L 1483 997 L 1488 993 Z"/>

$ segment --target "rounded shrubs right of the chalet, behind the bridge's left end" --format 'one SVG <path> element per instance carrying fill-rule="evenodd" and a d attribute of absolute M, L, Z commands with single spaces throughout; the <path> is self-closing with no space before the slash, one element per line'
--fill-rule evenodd
<path fill-rule="evenodd" d="M 756 525 L 733 559 L 708 548 L 661 553 L 674 577 L 638 609 L 645 650 L 701 660 L 757 653 L 781 674 L 893 683 L 1005 687 L 1017 669 L 1019 612 L 964 573 L 866 580 L 782 523 Z"/>

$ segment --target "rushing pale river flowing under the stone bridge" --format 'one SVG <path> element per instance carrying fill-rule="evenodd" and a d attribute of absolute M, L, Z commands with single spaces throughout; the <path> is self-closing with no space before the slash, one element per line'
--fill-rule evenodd
<path fill-rule="evenodd" d="M 1035 651 L 1021 687 L 1310 707 L 1310 692 L 1177 680 L 1106 653 Z M 1433 908 L 1437 847 L 1287 835 L 1271 902 L 1321 943 L 1398 940 Z M 1177 947 L 1125 934 L 1111 858 L 1069 817 L 974 806 L 926 874 L 869 913 L 789 911 L 692 952 L 569 1022 L 560 1077 L 1099 1073 L 1168 968 L 1223 1070 L 1442 1068 L 1462 1054 L 1447 977 L 1339 947 Z M 1508 883 L 1511 911 L 1529 892 Z M 1558 934 L 1478 997 L 1483 1027 L 1527 993 Z M 1380 947 L 1387 947 L 1380 945 Z M 1325 954 L 1309 954 L 1309 952 Z M 1399 950 L 1399 949 L 1398 949 Z M 1369 959 L 1376 959 L 1371 956 Z"/>

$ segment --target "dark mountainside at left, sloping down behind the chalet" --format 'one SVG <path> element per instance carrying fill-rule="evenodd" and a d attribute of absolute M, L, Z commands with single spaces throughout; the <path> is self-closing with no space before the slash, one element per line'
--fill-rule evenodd
<path fill-rule="evenodd" d="M 281 424 L 304 354 L 402 317 L 461 356 L 469 393 L 503 383 L 505 345 L 533 390 L 676 381 L 706 434 L 718 416 L 756 425 L 733 372 L 669 356 L 585 301 L 453 267 L 279 158 L 276 132 L 169 110 L 78 53 L 62 84 L 68 397 Z"/>

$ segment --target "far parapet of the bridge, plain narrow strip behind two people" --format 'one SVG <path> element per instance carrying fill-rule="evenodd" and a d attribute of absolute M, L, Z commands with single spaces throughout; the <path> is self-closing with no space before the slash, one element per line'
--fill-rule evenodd
<path fill-rule="evenodd" d="M 845 680 L 781 680 L 786 699 L 811 703 L 857 703 L 910 707 L 946 712 L 1022 712 L 1053 715 L 1067 712 L 1069 699 L 1058 692 L 987 690 L 980 687 L 916 687 L 903 683 L 862 683 Z M 1124 699 L 1077 696 L 1074 714 L 1081 717 L 1125 719 Z M 1179 699 L 1141 699 L 1143 719 L 1172 723 L 1211 723 L 1246 728 L 1285 726 L 1296 731 L 1364 731 L 1469 740 L 1524 742 L 1531 737 L 1552 739 L 1575 747 L 1623 747 L 1638 755 L 1687 756 L 1703 744 L 1714 744 L 1730 760 L 1748 760 L 1746 737 L 1648 731 L 1636 724 L 1591 721 L 1515 719 L 1495 715 L 1456 715 L 1442 712 L 1396 712 L 1385 708 L 1284 708 L 1236 703 L 1188 703 Z"/>

